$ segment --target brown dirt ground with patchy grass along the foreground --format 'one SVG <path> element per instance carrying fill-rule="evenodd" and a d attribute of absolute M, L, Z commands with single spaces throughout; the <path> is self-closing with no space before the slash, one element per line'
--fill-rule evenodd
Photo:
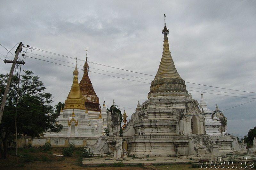
<path fill-rule="evenodd" d="M 18 156 L 15 150 L 11 150 L 7 159 L 0 158 L 1 170 L 167 170 L 167 169 L 190 169 L 191 165 L 140 165 L 140 166 L 103 166 L 103 167 L 82 167 L 81 148 L 76 148 L 71 157 L 56 156 L 62 154 L 63 148 L 52 148 L 50 151 L 43 151 L 42 148 L 21 148 Z M 192 168 L 194 169 L 194 168 Z"/>

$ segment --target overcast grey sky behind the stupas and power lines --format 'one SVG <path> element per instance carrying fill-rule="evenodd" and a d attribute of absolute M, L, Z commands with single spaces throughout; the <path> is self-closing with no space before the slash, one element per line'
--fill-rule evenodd
<path fill-rule="evenodd" d="M 253 0 L 1 0 L 0 59 L 13 60 L 20 42 L 33 47 L 21 69 L 40 77 L 54 106 L 68 96 L 74 58 L 82 69 L 88 48 L 89 76 L 100 103 L 105 97 L 109 107 L 115 99 L 129 119 L 138 100 L 147 100 L 156 75 L 163 52 L 164 14 L 172 58 L 188 92 L 200 102 L 202 91 L 208 109 L 215 110 L 218 104 L 225 110 L 228 133 L 246 135 L 256 126 Z M 0 74 L 9 73 L 10 67 L 0 62 Z M 80 70 L 79 80 L 82 75 Z"/>

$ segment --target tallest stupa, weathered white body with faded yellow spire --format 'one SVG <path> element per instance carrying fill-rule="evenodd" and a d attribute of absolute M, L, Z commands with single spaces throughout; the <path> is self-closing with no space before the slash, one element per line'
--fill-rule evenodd
<path fill-rule="evenodd" d="M 128 153 L 138 157 L 203 157 L 218 154 L 219 148 L 220 152 L 232 152 L 231 138 L 214 136 L 213 139 L 205 135 L 204 110 L 200 110 L 199 103 L 188 94 L 185 81 L 176 70 L 165 20 L 162 33 L 164 49 L 148 100 L 141 105 L 138 102 L 123 130 Z"/>

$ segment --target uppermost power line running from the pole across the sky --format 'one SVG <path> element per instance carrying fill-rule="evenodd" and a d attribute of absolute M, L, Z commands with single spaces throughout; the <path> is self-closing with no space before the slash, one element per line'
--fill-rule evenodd
<path fill-rule="evenodd" d="M 30 46 L 29 46 L 29 47 L 30 47 Z M 49 52 L 49 51 L 46 51 L 46 50 L 41 50 L 41 49 L 34 48 L 34 47 L 30 47 L 30 49 L 34 49 L 34 50 L 37 50 L 37 51 L 41 51 L 41 52 L 44 52 L 44 53 L 50 53 L 50 54 L 54 54 L 54 55 L 58 55 L 58 56 L 62 56 L 62 57 L 67 57 L 67 58 L 74 59 L 74 60 L 76 59 L 76 58 L 74 58 L 74 57 L 69 57 L 69 56 L 66 56 L 66 55 L 58 54 L 58 53 L 52 53 L 52 52 Z M 84 60 L 81 60 L 81 61 L 84 61 Z M 89 62 L 89 61 L 87 61 L 87 62 Z M 120 70 L 124 70 L 124 71 L 128 71 L 128 72 L 132 72 L 132 73 L 143 74 L 143 75 L 148 75 L 148 76 L 153 76 L 153 77 L 155 77 L 154 75 L 144 74 L 144 73 L 135 72 L 135 71 L 126 70 L 126 69 L 117 68 L 117 67 L 112 67 L 112 66 L 107 66 L 107 65 L 99 64 L 99 63 L 95 63 L 95 62 L 89 62 L 89 63 L 97 64 L 97 65 L 105 66 L 105 67 L 110 67 L 110 68 L 116 68 L 116 69 L 120 69 Z M 216 87 L 216 86 L 209 86 L 209 85 L 198 84 L 198 83 L 192 83 L 192 82 L 187 82 L 187 81 L 185 81 L 185 82 L 186 82 L 186 83 L 190 83 L 190 84 L 200 85 L 200 86 L 207 86 L 207 87 L 218 88 L 218 89 L 226 89 L 226 90 L 233 90 L 233 91 L 240 91 L 240 92 L 245 92 L 245 93 L 255 93 L 255 94 L 256 94 L 256 92 L 249 92 L 249 91 L 235 90 L 235 89 L 227 89 L 227 88 L 221 88 L 221 87 Z"/>

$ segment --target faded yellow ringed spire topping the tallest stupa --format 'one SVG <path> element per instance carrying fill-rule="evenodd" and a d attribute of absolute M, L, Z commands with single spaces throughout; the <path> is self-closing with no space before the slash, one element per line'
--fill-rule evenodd
<path fill-rule="evenodd" d="M 151 82 L 148 98 L 150 98 L 151 94 L 153 94 L 153 96 L 188 97 L 189 95 L 188 91 L 186 90 L 185 81 L 180 77 L 172 60 L 167 37 L 167 35 L 169 34 L 169 30 L 166 27 L 165 15 L 164 28 L 162 30 L 162 33 L 164 34 L 163 54 L 156 76 L 154 80 Z"/>

